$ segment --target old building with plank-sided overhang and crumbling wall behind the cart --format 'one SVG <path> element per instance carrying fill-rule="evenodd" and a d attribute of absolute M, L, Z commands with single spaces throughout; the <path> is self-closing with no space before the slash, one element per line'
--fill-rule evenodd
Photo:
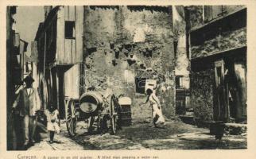
<path fill-rule="evenodd" d="M 35 41 L 44 107 L 64 112 L 65 98 L 91 87 L 139 107 L 152 87 L 165 115 L 175 114 L 171 6 L 46 6 Z"/>

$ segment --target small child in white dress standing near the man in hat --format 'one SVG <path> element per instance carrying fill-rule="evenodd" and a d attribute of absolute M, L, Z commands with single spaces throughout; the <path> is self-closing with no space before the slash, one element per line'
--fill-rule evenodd
<path fill-rule="evenodd" d="M 47 130 L 50 134 L 50 143 L 53 143 L 54 134 L 60 133 L 60 126 L 58 125 L 58 114 L 59 111 L 56 110 L 56 107 L 54 105 L 50 105 L 50 107 L 45 110 L 45 115 L 47 117 Z"/>

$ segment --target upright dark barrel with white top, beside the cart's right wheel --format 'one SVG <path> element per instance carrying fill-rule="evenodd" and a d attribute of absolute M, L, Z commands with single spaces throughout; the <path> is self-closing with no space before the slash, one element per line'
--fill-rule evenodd
<path fill-rule="evenodd" d="M 120 106 L 122 107 L 120 122 L 122 126 L 131 125 L 131 99 L 129 97 L 121 97 L 118 99 Z"/>

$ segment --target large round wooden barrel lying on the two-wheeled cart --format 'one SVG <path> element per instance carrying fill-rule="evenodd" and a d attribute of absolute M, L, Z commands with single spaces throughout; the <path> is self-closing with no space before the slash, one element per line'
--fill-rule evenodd
<path fill-rule="evenodd" d="M 95 114 L 103 105 L 103 97 L 97 91 L 88 91 L 80 97 L 80 110 L 87 114 Z"/>

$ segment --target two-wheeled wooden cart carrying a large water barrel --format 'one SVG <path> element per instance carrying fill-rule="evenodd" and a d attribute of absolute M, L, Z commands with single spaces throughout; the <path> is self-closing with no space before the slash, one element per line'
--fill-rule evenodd
<path fill-rule="evenodd" d="M 111 129 L 111 134 L 116 134 L 118 128 L 121 128 L 121 124 L 118 122 L 121 111 L 122 108 L 115 95 L 111 95 L 111 103 L 96 91 L 84 93 L 80 99 L 66 98 L 65 118 L 68 134 L 70 137 L 76 135 L 78 120 L 87 122 L 89 133 L 93 130 L 93 124 L 96 122 L 99 132 Z M 106 122 L 110 122 L 110 124 L 106 125 Z"/>

